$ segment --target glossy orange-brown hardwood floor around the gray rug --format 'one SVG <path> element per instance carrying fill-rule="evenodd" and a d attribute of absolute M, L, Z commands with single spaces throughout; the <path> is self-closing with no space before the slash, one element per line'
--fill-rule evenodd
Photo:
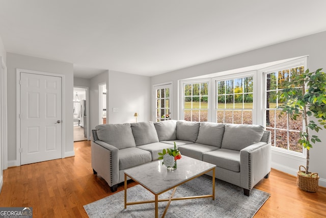
<path fill-rule="evenodd" d="M 34 217 L 87 217 L 83 205 L 112 193 L 93 175 L 90 141 L 75 142 L 74 149 L 75 157 L 6 169 L 0 207 L 33 207 Z M 269 179 L 255 186 L 271 194 L 255 217 L 325 217 L 326 188 L 305 192 L 295 179 L 272 169 Z"/>

